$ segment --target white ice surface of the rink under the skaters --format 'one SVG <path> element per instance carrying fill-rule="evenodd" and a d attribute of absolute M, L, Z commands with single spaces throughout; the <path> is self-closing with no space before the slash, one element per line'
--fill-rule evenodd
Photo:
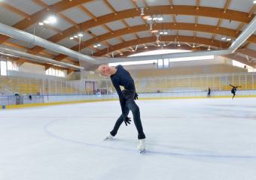
<path fill-rule="evenodd" d="M 0 179 L 256 179 L 255 101 L 136 101 L 145 154 L 119 101 L 0 110 Z"/>

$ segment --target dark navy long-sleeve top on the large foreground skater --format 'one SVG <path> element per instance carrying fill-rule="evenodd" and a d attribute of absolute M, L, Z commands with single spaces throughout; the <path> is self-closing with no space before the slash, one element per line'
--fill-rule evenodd
<path fill-rule="evenodd" d="M 111 82 L 113 83 L 114 88 L 117 90 L 117 94 L 119 96 L 120 106 L 122 109 L 122 113 L 125 113 L 125 98 L 120 89 L 120 86 L 123 86 L 124 89 L 130 91 L 136 91 L 133 78 L 130 73 L 126 71 L 122 65 L 117 65 L 117 72 L 110 76 Z"/>

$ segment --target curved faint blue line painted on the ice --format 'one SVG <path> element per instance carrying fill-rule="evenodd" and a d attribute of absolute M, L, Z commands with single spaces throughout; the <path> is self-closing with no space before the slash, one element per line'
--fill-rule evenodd
<path fill-rule="evenodd" d="M 50 136 L 56 137 L 58 139 L 62 139 L 68 142 L 74 142 L 74 143 L 78 143 L 78 144 L 82 144 L 82 145 L 89 145 L 89 146 L 93 146 L 93 147 L 98 147 L 98 148 L 111 148 L 111 149 L 116 149 L 116 150 L 121 150 L 121 151 L 136 151 L 138 152 L 138 150 L 132 150 L 132 149 L 127 149 L 127 148 L 113 148 L 113 147 L 108 147 L 108 146 L 104 146 L 104 145 L 95 145 L 95 144 L 89 144 L 86 142 L 79 142 L 79 141 L 75 141 L 72 139 L 66 139 L 63 138 L 61 136 L 56 136 L 53 133 L 50 133 L 49 130 L 47 130 L 47 127 L 50 124 L 53 124 L 56 121 L 61 121 L 62 119 L 58 119 L 55 121 L 51 121 L 50 123 L 46 124 L 44 126 L 44 131 L 49 134 Z M 151 154 L 166 154 L 166 155 L 172 155 L 172 156 L 187 156 L 187 157 L 219 157 L 219 158 L 256 158 L 256 156 L 240 156 L 240 155 L 215 155 L 215 154 L 182 154 L 182 153 L 173 153 L 173 152 L 161 152 L 161 151 L 148 151 L 146 150 L 146 153 L 151 153 Z"/>

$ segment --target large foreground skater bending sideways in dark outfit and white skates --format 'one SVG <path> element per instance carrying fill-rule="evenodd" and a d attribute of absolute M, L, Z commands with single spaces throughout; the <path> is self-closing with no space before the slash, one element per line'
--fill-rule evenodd
<path fill-rule="evenodd" d="M 112 139 L 117 134 L 117 130 L 119 129 L 123 121 L 126 124 L 126 126 L 127 123 L 130 124 L 131 120 L 127 117 L 127 115 L 131 110 L 133 112 L 134 124 L 136 125 L 136 128 L 138 130 L 138 149 L 140 153 L 142 153 L 143 151 L 145 151 L 145 133 L 143 132 L 142 128 L 139 107 L 134 101 L 136 100 L 136 98 L 138 99 L 138 95 L 136 93 L 133 78 L 130 76 L 130 73 L 123 68 L 122 65 L 117 65 L 116 68 L 108 67 L 108 65 L 101 65 L 99 67 L 99 74 L 105 77 L 111 75 L 111 82 L 114 88 L 117 90 L 117 94 L 119 96 L 120 101 L 120 107 L 122 110 L 122 114 L 114 124 L 113 130 L 111 130 L 111 132 L 105 139 Z M 124 87 L 123 91 L 121 91 L 120 86 Z"/>

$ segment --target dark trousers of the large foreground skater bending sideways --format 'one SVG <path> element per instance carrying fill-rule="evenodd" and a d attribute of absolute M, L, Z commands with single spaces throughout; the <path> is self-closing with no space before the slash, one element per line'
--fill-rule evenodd
<path fill-rule="evenodd" d="M 133 99 L 135 92 L 131 92 L 130 94 L 131 94 L 130 98 L 126 99 L 125 113 L 126 113 L 126 115 L 128 115 L 130 110 L 133 112 L 133 121 L 138 130 L 138 139 L 145 139 L 145 133 L 143 132 L 139 107 L 137 106 L 137 104 L 135 103 L 135 101 Z M 117 130 L 119 129 L 119 127 L 122 123 L 123 123 L 123 114 L 121 114 L 120 117 L 117 118 L 117 121 L 114 124 L 113 130 L 111 130 L 111 132 L 110 132 L 112 136 L 115 136 L 117 134 Z"/>

